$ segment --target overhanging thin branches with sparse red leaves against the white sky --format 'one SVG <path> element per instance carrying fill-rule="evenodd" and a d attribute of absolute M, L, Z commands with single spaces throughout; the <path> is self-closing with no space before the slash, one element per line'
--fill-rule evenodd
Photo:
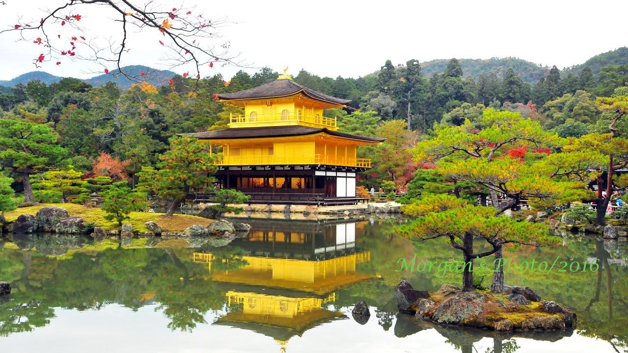
<path fill-rule="evenodd" d="M 90 60 L 101 66 L 97 72 L 110 73 L 116 67 L 111 75 L 142 82 L 149 79 L 149 73 L 125 72 L 121 62 L 133 43 L 145 40 L 139 38 L 141 33 L 151 31 L 161 35 L 160 40 L 154 40 L 156 50 L 164 52 L 161 61 L 170 67 L 191 64 L 197 79 L 202 70 L 217 63 L 235 63 L 229 55 L 229 43 L 216 43 L 218 28 L 225 19 L 205 18 L 196 8 L 139 0 L 49 1 L 46 5 L 50 7 L 41 10 L 18 3 L 0 2 L 0 12 L 11 24 L 0 30 L 0 35 L 14 33 L 16 40 L 32 41 L 36 68 L 48 62 L 63 65 L 66 60 Z M 92 9 L 98 11 L 97 16 L 89 16 Z M 105 39 L 103 32 L 114 36 Z"/>

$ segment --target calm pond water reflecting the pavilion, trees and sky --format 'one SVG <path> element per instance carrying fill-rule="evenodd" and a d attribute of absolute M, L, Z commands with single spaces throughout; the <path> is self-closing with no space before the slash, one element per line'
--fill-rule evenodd
<path fill-rule="evenodd" d="M 575 329 L 496 335 L 399 314 L 393 288 L 436 290 L 454 275 L 399 269 L 398 259 L 449 261 L 438 239 L 394 235 L 403 219 L 254 220 L 228 246 L 197 242 L 8 235 L 0 238 L 3 352 L 622 352 L 628 350 L 628 245 L 563 237 L 505 251 L 556 258 L 577 271 L 512 271 L 506 283 L 570 305 Z M 490 260 L 487 260 L 490 262 Z M 587 270 L 582 271 L 583 264 Z M 598 264 L 597 271 L 592 271 Z M 575 264 L 572 266 L 575 269 Z M 484 281 L 490 285 L 490 278 Z M 369 320 L 351 309 L 365 300 Z"/>

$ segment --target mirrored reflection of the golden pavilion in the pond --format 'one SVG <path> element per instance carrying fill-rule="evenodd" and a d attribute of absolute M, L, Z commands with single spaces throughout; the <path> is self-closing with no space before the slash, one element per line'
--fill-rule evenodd
<path fill-rule="evenodd" d="M 285 351 L 291 337 L 347 318 L 332 305 L 338 288 L 378 278 L 357 270 L 371 253 L 355 248 L 355 222 L 249 223 L 249 236 L 232 243 L 244 249 L 241 267 L 222 270 L 214 254 L 193 254 L 195 263 L 207 264 L 213 281 L 229 288 L 227 314 L 215 324 L 267 335 Z"/>

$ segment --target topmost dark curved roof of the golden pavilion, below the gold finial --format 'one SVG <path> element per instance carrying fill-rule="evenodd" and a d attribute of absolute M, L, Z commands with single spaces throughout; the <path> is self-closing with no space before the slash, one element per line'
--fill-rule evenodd
<path fill-rule="evenodd" d="M 313 89 L 308 89 L 307 87 L 297 84 L 290 79 L 274 80 L 269 84 L 264 84 L 252 89 L 241 90 L 240 92 L 234 93 L 219 94 L 218 97 L 224 100 L 262 99 L 273 97 L 286 97 L 288 95 L 297 94 L 298 92 L 303 92 L 303 94 L 312 99 L 323 100 L 324 102 L 330 102 L 335 104 L 347 104 L 351 101 L 349 99 L 340 99 L 332 97 L 331 95 L 322 94 Z"/>

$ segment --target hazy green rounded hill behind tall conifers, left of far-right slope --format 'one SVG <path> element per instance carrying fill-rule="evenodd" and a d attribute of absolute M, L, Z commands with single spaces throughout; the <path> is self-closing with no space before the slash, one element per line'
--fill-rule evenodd
<path fill-rule="evenodd" d="M 458 59 L 462 66 L 464 77 L 473 77 L 477 81 L 478 77 L 485 73 L 495 73 L 497 78 L 504 77 L 504 73 L 512 68 L 524 82 L 535 84 L 541 77 L 549 73 L 549 67 L 528 62 L 519 58 L 490 58 L 490 59 Z M 421 63 L 421 72 L 426 76 L 434 73 L 441 73 L 447 68 L 449 59 L 430 60 Z"/>

